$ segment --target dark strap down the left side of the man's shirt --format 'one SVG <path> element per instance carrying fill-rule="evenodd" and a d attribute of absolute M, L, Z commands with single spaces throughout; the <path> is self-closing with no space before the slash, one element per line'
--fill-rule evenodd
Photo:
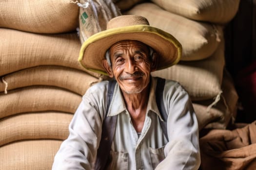
<path fill-rule="evenodd" d="M 107 164 L 111 144 L 116 131 L 117 116 L 107 116 L 110 102 L 112 101 L 115 85 L 115 80 L 109 81 L 107 93 L 107 108 L 102 123 L 101 139 L 97 151 L 97 158 L 95 162 L 95 170 L 104 170 Z"/>

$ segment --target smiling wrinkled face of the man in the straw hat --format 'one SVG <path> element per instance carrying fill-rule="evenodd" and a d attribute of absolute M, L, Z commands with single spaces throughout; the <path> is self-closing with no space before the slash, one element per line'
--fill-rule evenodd
<path fill-rule="evenodd" d="M 156 57 L 149 58 L 149 48 L 138 41 L 125 40 L 110 48 L 112 68 L 110 77 L 115 77 L 122 91 L 140 93 L 150 81 L 150 72 L 156 68 Z"/>

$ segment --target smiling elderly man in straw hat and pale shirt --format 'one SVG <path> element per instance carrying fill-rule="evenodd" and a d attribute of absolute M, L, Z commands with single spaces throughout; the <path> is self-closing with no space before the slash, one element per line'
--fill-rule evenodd
<path fill-rule="evenodd" d="M 109 81 L 86 91 L 53 170 L 91 170 L 95 166 L 102 170 L 197 170 L 198 125 L 190 98 L 177 82 L 165 80 L 161 96 L 167 116 L 165 136 L 156 101 L 158 78 L 150 75 L 176 64 L 180 55 L 181 45 L 172 35 L 149 26 L 140 16 L 113 18 L 106 31 L 89 37 L 79 61 L 89 70 L 114 78 L 117 84 L 109 103 Z M 102 128 L 105 119 L 114 117 L 115 123 Z M 112 127 L 113 139 L 101 137 Z M 102 149 L 102 140 L 111 142 L 110 152 L 108 147 Z M 102 157 L 108 158 L 106 164 L 98 165 Z"/>

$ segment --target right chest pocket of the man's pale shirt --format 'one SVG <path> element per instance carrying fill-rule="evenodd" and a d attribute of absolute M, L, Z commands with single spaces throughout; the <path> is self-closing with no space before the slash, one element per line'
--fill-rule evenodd
<path fill-rule="evenodd" d="M 149 147 L 150 159 L 153 169 L 155 169 L 158 164 L 165 158 L 164 147 L 165 146 L 158 149 Z"/>

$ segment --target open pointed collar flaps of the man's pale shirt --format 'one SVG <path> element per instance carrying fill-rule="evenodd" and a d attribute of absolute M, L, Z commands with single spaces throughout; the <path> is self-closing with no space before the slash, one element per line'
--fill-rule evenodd
<path fill-rule="evenodd" d="M 160 117 L 161 120 L 163 120 L 159 113 L 158 105 L 156 102 L 156 94 L 155 94 L 156 87 L 157 87 L 157 78 L 151 77 L 151 86 L 150 86 L 149 100 L 148 100 L 146 113 L 149 113 L 150 111 L 152 111 L 152 112 L 156 113 Z M 118 104 L 116 104 L 117 102 L 118 102 Z M 120 87 L 117 83 L 115 86 L 115 89 L 114 89 L 113 98 L 110 103 L 107 116 L 115 116 L 115 115 L 122 113 L 125 110 L 126 110 L 126 106 L 125 106 L 125 103 L 123 100 L 123 96 L 122 96 Z"/>

